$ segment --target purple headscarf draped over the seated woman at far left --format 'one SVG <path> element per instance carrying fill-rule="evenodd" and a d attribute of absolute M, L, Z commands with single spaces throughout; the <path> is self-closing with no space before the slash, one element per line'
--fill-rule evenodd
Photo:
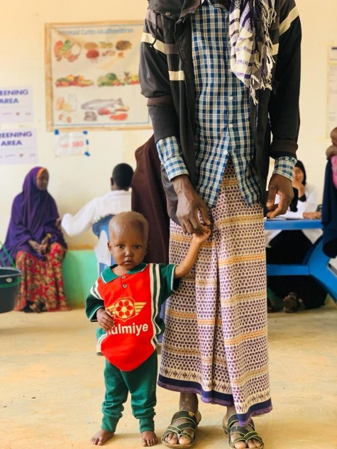
<path fill-rule="evenodd" d="M 59 216 L 53 196 L 47 190 L 40 190 L 36 185 L 38 175 L 47 171 L 43 167 L 34 167 L 23 182 L 21 194 L 14 200 L 11 210 L 11 221 L 7 231 L 4 247 L 12 260 L 16 259 L 18 251 L 26 251 L 31 255 L 43 259 L 45 256 L 31 248 L 28 240 L 41 243 L 47 233 L 50 233 L 50 242 L 59 242 L 67 248 L 62 232 L 56 228 L 55 222 Z M 7 265 L 10 261 L 1 252 Z M 1 262 L 1 260 L 0 260 Z"/>

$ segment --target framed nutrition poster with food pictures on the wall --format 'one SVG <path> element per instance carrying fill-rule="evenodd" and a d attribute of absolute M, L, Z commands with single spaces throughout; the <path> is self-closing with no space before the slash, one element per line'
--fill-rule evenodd
<path fill-rule="evenodd" d="M 151 128 L 140 94 L 143 23 L 45 26 L 47 129 Z"/>

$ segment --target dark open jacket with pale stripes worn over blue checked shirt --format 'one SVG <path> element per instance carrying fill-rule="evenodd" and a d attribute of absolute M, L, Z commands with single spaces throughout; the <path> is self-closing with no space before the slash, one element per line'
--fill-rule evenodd
<path fill-rule="evenodd" d="M 190 17 L 199 0 L 150 0 L 140 49 L 140 85 L 148 98 L 155 141 L 176 136 L 195 187 L 195 87 Z M 273 90 L 258 91 L 258 106 L 250 104 L 255 145 L 255 170 L 265 192 L 269 157 L 296 157 L 299 131 L 301 25 L 294 0 L 275 0 L 277 17 L 270 29 L 275 65 Z M 280 26 L 281 24 L 281 26 Z M 277 52 L 278 49 L 278 52 Z M 178 80 L 170 80 L 170 72 Z M 181 80 L 180 80 L 181 79 Z M 272 133 L 272 140 L 271 140 Z M 167 199 L 175 216 L 176 196 L 162 170 Z"/>

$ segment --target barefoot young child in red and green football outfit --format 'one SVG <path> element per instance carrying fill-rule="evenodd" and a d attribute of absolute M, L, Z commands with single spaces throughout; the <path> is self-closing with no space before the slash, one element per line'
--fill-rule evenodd
<path fill-rule="evenodd" d="M 116 265 L 106 268 L 86 302 L 90 321 L 98 321 L 98 352 L 106 357 L 106 393 L 101 429 L 92 444 L 103 445 L 114 436 L 123 403 L 131 393 L 133 416 L 138 418 L 142 445 L 157 443 L 154 431 L 158 335 L 164 331 L 160 306 L 179 288 L 197 260 L 201 243 L 210 235 L 194 234 L 179 265 L 145 264 L 148 221 L 136 212 L 123 212 L 109 223 L 108 248 Z"/>

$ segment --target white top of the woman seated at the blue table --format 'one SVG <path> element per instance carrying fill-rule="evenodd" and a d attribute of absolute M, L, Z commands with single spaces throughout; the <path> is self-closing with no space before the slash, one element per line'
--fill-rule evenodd
<path fill-rule="evenodd" d="M 292 212 L 290 209 L 284 215 L 280 215 L 277 218 L 304 218 L 304 212 L 316 212 L 319 203 L 319 195 L 315 186 L 311 184 L 305 184 L 305 197 L 306 201 L 297 201 L 297 212 Z M 280 201 L 280 196 L 276 195 L 275 204 Z M 270 248 L 269 243 L 272 238 L 276 237 L 282 229 L 275 229 L 272 231 L 265 231 L 265 245 Z M 311 243 L 315 243 L 316 240 L 321 237 L 321 229 L 302 229 L 302 233 L 309 238 Z"/>

